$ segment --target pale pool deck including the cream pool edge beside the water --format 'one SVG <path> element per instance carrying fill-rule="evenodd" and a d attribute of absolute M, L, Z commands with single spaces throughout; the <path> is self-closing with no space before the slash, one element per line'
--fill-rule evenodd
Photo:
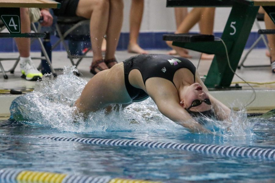
<path fill-rule="evenodd" d="M 149 53 L 166 54 L 168 50 L 148 50 Z M 244 50 L 246 53 L 247 50 Z M 265 55 L 266 49 L 254 49 L 249 55 L 245 62 L 245 65 L 259 65 L 269 64 L 269 58 Z M 91 55 L 91 53 L 89 53 Z M 127 51 L 117 51 L 116 57 L 119 62 L 134 56 L 136 54 L 128 53 Z M 190 59 L 193 64 L 197 67 L 200 53 L 190 51 L 190 55 L 193 57 Z M 244 55 L 244 54 L 243 54 Z M 6 57 L 17 57 L 18 53 L 0 53 L 0 58 Z M 32 52 L 31 56 L 38 57 L 40 52 Z M 71 65 L 69 59 L 66 56 L 66 52 L 53 52 L 52 54 L 52 65 L 54 68 L 63 68 L 66 65 Z M 15 61 L 2 61 L 5 70 L 9 70 Z M 40 60 L 34 60 L 34 63 L 38 66 Z M 93 74 L 89 72 L 89 66 L 91 64 L 91 58 L 85 58 L 79 64 L 77 69 L 81 73 L 82 78 L 87 81 L 93 77 Z M 210 67 L 211 60 L 201 60 L 198 67 L 199 73 L 203 76 L 207 74 Z M 271 72 L 271 67 L 251 67 L 241 68 L 236 73 L 242 77 L 245 81 L 256 82 L 251 85 L 255 88 L 256 98 L 247 106 L 248 113 L 264 113 L 275 108 L 275 74 Z M 57 74 L 61 74 L 61 71 L 57 71 Z M 26 81 L 21 78 L 19 65 L 16 67 L 14 74 L 7 73 L 8 79 L 4 79 L 2 73 L 0 73 L 0 90 L 2 89 L 33 89 L 35 87 L 35 81 Z M 242 81 L 236 75 L 233 78 L 233 82 Z M 273 83 L 271 83 L 273 82 Z M 261 83 L 261 84 L 259 84 Z M 270 84 L 271 83 L 271 84 Z M 232 84 L 234 86 L 235 84 Z M 241 106 L 249 103 L 253 99 L 252 89 L 244 83 L 239 83 L 242 89 L 232 90 L 215 90 L 210 91 L 211 95 L 216 97 L 218 100 L 223 102 L 228 107 L 238 109 Z M 9 117 L 9 106 L 13 99 L 20 95 L 12 94 L 0 94 L 0 120 Z"/>

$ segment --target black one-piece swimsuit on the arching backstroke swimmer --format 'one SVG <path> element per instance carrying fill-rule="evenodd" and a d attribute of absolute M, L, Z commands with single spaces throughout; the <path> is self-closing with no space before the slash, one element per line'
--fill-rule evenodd
<path fill-rule="evenodd" d="M 123 64 L 125 86 L 130 97 L 133 99 L 133 102 L 138 102 L 146 97 L 149 97 L 145 91 L 140 88 L 133 87 L 130 84 L 128 76 L 130 71 L 133 69 L 138 69 L 140 71 L 144 84 L 150 77 L 161 77 L 171 81 L 174 84 L 174 74 L 180 68 L 189 69 L 194 75 L 195 82 L 196 67 L 188 59 L 184 59 L 182 57 L 160 54 L 142 54 L 126 59 L 123 61 Z"/>

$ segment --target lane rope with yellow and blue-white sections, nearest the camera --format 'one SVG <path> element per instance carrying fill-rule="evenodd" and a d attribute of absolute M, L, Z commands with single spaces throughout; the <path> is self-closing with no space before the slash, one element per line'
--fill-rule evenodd
<path fill-rule="evenodd" d="M 111 178 L 109 176 L 69 175 L 22 169 L 0 169 L 1 183 L 161 183 L 156 181 Z"/>

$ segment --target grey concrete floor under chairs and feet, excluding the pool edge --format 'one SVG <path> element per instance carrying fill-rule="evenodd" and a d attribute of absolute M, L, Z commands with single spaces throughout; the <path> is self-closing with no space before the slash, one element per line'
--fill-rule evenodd
<path fill-rule="evenodd" d="M 156 54 L 166 54 L 168 50 L 148 50 L 149 53 Z M 244 50 L 246 53 L 247 50 Z M 265 55 L 265 49 L 254 49 L 249 55 L 247 60 L 245 61 L 245 65 L 259 65 L 259 64 L 270 64 L 270 60 Z M 88 55 L 92 55 L 89 53 Z M 128 53 L 127 51 L 117 51 L 116 57 L 119 62 L 129 58 L 130 56 L 134 56 L 133 53 Z M 190 59 L 193 64 L 198 68 L 199 73 L 203 75 L 207 75 L 209 70 L 211 60 L 201 60 L 198 66 L 200 53 L 190 51 L 190 55 L 193 57 Z M 244 54 L 243 54 L 244 55 Z M 18 53 L 0 53 L 0 58 L 7 57 L 17 57 Z M 40 56 L 40 52 L 32 52 L 31 56 L 38 57 Z M 9 70 L 15 61 L 2 61 L 2 64 L 5 70 Z M 39 66 L 40 60 L 34 60 L 36 66 Z M 71 63 L 67 58 L 66 52 L 53 52 L 52 53 L 52 64 L 54 68 L 63 68 L 64 66 L 70 66 Z M 87 81 L 93 77 L 93 74 L 89 72 L 89 66 L 91 64 L 91 58 L 85 58 L 81 61 L 77 69 L 81 73 L 82 78 L 85 78 Z M 57 71 L 57 74 L 61 74 L 61 71 Z M 275 81 L 275 74 L 271 72 L 271 67 L 252 67 L 252 68 L 241 68 L 236 71 L 240 77 L 242 77 L 245 81 L 250 82 L 261 82 L 261 83 L 269 83 Z M 8 79 L 4 79 L 2 73 L 0 73 L 0 89 L 16 89 L 16 88 L 34 88 L 34 81 L 26 81 L 21 78 L 21 73 L 19 69 L 19 65 L 16 67 L 14 74 L 7 73 Z M 242 81 L 236 75 L 233 78 L 233 82 Z M 243 89 L 249 89 L 247 84 L 240 84 L 243 86 Z M 255 89 L 274 89 L 275 84 L 251 84 L 255 87 Z"/>

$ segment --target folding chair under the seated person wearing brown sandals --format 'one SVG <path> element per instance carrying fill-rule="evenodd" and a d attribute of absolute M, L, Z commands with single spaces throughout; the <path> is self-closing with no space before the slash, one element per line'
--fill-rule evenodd
<path fill-rule="evenodd" d="M 65 40 L 72 41 L 90 41 L 90 20 L 79 17 L 63 17 L 57 16 L 57 23 L 55 25 L 56 32 L 55 35 L 60 38 L 53 46 L 54 49 L 60 42 L 64 46 L 68 58 L 71 61 L 71 64 L 75 67 L 79 65 L 83 58 L 92 58 L 93 56 L 87 56 L 86 54 L 90 51 L 91 48 L 85 50 L 82 55 L 72 55 L 69 51 L 68 44 Z M 75 62 L 74 59 L 77 59 Z M 78 74 L 78 73 L 77 73 Z"/>

